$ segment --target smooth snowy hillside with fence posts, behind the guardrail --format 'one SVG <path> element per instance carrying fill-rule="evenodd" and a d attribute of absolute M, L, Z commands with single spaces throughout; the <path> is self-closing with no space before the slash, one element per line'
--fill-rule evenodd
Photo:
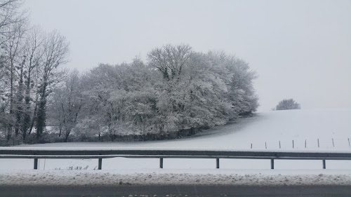
<path fill-rule="evenodd" d="M 22 147 L 155 147 L 206 149 L 350 150 L 351 109 L 258 113 L 189 138 L 151 142 L 72 142 Z M 319 141 L 319 147 L 318 147 Z M 334 146 L 333 146 L 334 142 Z M 294 145 L 293 145 L 294 143 Z M 306 144 L 306 147 L 305 147 Z"/>

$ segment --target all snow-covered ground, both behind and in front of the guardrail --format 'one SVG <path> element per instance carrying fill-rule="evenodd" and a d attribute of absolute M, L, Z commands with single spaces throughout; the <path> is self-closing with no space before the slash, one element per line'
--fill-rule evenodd
<path fill-rule="evenodd" d="M 258 113 L 228 125 L 218 126 L 193 137 L 154 142 L 74 142 L 22 145 L 29 149 L 65 149 L 123 147 L 135 149 L 244 149 L 274 151 L 350 151 L 351 109 L 290 110 Z M 280 143 L 279 143 L 280 142 Z M 279 147 L 280 144 L 280 147 Z M 82 177 L 91 183 L 148 182 L 249 184 L 350 184 L 351 161 L 274 161 L 220 159 L 164 158 L 164 169 L 159 169 L 157 158 L 98 159 L 39 159 L 39 170 L 32 170 L 32 159 L 0 159 L 0 182 L 15 184 L 22 179 L 30 183 L 80 184 Z M 240 169 L 240 170 L 239 170 Z M 12 178 L 11 178 L 12 177 Z M 183 178 L 182 178 L 183 177 Z M 212 178 L 210 178 L 212 177 Z M 273 178 L 274 177 L 274 178 Z M 121 179 L 121 180 L 119 180 Z M 199 180 L 199 181 L 198 181 Z M 206 181 L 205 181 L 206 180 Z M 222 180 L 222 181 L 221 181 Z M 226 181 L 224 181 L 226 180 Z M 289 180 L 289 183 L 286 182 Z M 251 182 L 253 183 L 253 182 Z"/>

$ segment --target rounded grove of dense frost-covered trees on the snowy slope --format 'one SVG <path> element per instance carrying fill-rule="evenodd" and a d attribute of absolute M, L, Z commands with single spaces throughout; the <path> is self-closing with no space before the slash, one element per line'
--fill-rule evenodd
<path fill-rule="evenodd" d="M 147 57 L 100 64 L 81 78 L 77 135 L 166 139 L 223 125 L 258 107 L 256 74 L 244 60 L 187 45 L 155 48 Z"/>

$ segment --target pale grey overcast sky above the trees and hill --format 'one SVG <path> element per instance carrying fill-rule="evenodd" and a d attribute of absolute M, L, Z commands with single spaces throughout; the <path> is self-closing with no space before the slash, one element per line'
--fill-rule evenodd
<path fill-rule="evenodd" d="M 66 67 L 144 60 L 166 43 L 223 50 L 258 73 L 258 111 L 351 107 L 351 1 L 27 0 L 33 25 L 70 42 Z"/>

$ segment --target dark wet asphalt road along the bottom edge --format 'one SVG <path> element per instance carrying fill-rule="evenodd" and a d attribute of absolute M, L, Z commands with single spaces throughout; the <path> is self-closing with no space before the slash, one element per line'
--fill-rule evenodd
<path fill-rule="evenodd" d="M 3 186 L 0 196 L 351 196 L 351 186 Z"/>

